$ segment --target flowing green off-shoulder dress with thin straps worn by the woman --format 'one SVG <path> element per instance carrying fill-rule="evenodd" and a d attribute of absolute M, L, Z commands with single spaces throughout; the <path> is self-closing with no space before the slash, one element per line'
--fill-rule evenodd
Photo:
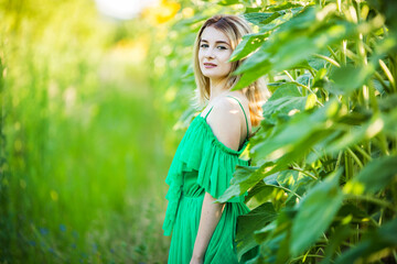
<path fill-rule="evenodd" d="M 212 108 L 208 113 L 211 110 Z M 169 204 L 163 230 L 164 235 L 172 233 L 169 264 L 190 263 L 205 191 L 218 198 L 229 186 L 236 165 L 248 166 L 248 161 L 239 158 L 248 140 L 239 151 L 227 147 L 215 138 L 207 124 L 208 113 L 205 118 L 198 114 L 191 122 L 176 148 L 165 179 L 170 188 L 165 196 Z M 245 112 L 244 114 L 246 116 Z M 226 202 L 208 242 L 204 263 L 239 263 L 235 242 L 236 223 L 238 216 L 249 212 L 244 204 L 246 195 L 247 193 Z"/>

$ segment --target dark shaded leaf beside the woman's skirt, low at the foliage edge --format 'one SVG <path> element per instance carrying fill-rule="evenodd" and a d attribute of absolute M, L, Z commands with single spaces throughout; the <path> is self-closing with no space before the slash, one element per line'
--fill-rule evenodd
<path fill-rule="evenodd" d="M 277 212 L 271 202 L 265 202 L 249 213 L 238 217 L 236 234 L 238 258 L 240 258 L 244 253 L 258 245 L 255 241 L 254 232 L 264 228 L 264 226 L 275 220 L 276 217 Z"/>

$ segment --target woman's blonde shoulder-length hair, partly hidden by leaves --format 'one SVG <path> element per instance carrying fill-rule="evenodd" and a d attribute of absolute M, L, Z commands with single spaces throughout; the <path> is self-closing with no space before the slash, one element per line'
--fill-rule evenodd
<path fill-rule="evenodd" d="M 200 42 L 204 30 L 208 26 L 214 26 L 216 30 L 222 31 L 230 41 L 232 48 L 235 50 L 240 43 L 244 35 L 253 33 L 249 24 L 242 18 L 230 14 L 217 14 L 206 20 L 200 29 L 195 43 L 194 43 L 194 59 L 193 69 L 196 82 L 196 101 L 198 105 L 204 105 L 210 99 L 210 78 L 205 77 L 200 69 L 198 50 Z M 232 75 L 245 58 L 232 62 L 232 70 L 227 76 L 227 88 L 232 89 L 240 79 L 242 75 Z M 261 105 L 265 102 L 266 86 L 262 78 L 254 81 L 248 87 L 242 89 L 243 94 L 248 99 L 250 120 L 254 127 L 260 123 L 262 119 Z"/>

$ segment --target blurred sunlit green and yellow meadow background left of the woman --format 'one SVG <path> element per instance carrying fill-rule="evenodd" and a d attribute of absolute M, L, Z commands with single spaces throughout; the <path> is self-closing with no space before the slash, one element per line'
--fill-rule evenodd
<path fill-rule="evenodd" d="M 205 4 L 0 0 L 0 263 L 167 262 Z"/>

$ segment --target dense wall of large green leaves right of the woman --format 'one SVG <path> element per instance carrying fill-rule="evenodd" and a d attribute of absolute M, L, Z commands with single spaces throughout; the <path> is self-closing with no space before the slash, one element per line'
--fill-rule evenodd
<path fill-rule="evenodd" d="M 248 205 L 276 210 L 238 229 L 256 229 L 250 263 L 397 262 L 397 28 L 385 7 L 397 11 L 390 1 L 246 10 L 258 33 L 232 55 L 246 58 L 234 89 L 265 75 L 272 96 L 250 140 L 257 166 L 238 168 L 219 200 L 248 190 Z"/>

